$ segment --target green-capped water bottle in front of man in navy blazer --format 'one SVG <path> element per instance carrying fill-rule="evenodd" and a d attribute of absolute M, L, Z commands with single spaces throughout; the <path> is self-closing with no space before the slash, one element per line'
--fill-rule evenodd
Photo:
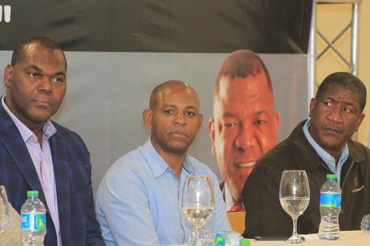
<path fill-rule="evenodd" d="M 46 234 L 46 209 L 38 191 L 27 191 L 28 199 L 21 208 L 21 232 L 24 246 L 43 246 Z"/>

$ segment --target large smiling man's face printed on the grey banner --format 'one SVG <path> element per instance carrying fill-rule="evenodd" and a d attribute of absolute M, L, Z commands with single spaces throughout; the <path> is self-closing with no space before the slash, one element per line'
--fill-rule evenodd
<path fill-rule="evenodd" d="M 262 71 L 246 78 L 223 77 L 209 122 L 212 152 L 236 202 L 246 179 L 277 141 L 279 115 Z"/>

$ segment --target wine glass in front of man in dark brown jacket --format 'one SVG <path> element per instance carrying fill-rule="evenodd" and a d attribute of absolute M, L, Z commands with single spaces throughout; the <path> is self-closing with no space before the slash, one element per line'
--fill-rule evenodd
<path fill-rule="evenodd" d="M 283 209 L 293 218 L 293 235 L 284 243 L 306 243 L 297 234 L 297 218 L 306 210 L 310 202 L 310 187 L 306 171 L 283 171 L 279 197 Z"/>

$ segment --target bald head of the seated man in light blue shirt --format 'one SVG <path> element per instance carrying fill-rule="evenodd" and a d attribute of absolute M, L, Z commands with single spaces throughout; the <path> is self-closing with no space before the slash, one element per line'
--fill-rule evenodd
<path fill-rule="evenodd" d="M 195 90 L 182 81 L 164 82 L 152 91 L 149 106 L 142 117 L 155 150 L 168 165 L 172 154 L 185 158 L 203 121 Z"/>

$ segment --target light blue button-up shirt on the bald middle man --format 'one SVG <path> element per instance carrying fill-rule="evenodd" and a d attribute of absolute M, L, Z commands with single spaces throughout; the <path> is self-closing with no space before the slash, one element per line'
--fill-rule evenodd
<path fill-rule="evenodd" d="M 181 245 L 195 231 L 182 211 L 182 189 L 188 175 L 211 176 L 215 210 L 203 229 L 231 231 L 216 175 L 186 155 L 180 179 L 155 151 L 150 137 L 118 159 L 97 193 L 96 213 L 107 246 Z"/>

